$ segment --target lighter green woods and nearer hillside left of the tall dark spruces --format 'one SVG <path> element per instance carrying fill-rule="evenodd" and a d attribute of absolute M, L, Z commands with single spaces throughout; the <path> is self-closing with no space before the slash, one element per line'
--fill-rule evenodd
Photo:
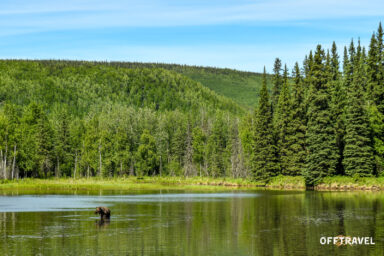
<path fill-rule="evenodd" d="M 3 178 L 249 176 L 244 110 L 163 69 L 0 62 Z"/>

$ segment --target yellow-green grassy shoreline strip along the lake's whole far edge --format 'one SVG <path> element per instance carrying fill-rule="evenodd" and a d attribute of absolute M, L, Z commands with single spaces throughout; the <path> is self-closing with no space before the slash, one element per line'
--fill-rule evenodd
<path fill-rule="evenodd" d="M 234 189 L 276 189 L 305 190 L 303 177 L 277 176 L 267 184 L 248 179 L 207 177 L 119 177 L 119 178 L 51 178 L 20 179 L 0 181 L 0 191 L 11 190 L 234 190 Z M 314 188 L 319 191 L 384 190 L 384 177 L 352 178 L 344 176 L 327 177 Z"/>

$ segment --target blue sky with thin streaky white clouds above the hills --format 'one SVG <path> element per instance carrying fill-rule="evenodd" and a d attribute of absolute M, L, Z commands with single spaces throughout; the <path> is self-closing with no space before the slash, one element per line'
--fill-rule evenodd
<path fill-rule="evenodd" d="M 1 0 L 0 58 L 272 71 L 317 44 L 368 46 L 382 0 Z"/>

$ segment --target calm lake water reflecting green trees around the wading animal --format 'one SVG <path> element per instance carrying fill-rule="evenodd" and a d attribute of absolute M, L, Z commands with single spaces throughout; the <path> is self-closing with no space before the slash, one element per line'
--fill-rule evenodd
<path fill-rule="evenodd" d="M 384 194 L 3 193 L 0 235 L 1 255 L 384 255 Z M 320 244 L 337 235 L 376 244 Z"/>

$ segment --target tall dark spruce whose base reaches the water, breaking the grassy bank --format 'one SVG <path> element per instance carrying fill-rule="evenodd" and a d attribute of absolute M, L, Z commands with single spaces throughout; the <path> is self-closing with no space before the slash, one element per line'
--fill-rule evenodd
<path fill-rule="evenodd" d="M 311 70 L 308 99 L 307 159 L 303 173 L 307 185 L 314 185 L 321 178 L 335 174 L 338 158 L 324 61 L 324 50 L 318 45 Z"/>

